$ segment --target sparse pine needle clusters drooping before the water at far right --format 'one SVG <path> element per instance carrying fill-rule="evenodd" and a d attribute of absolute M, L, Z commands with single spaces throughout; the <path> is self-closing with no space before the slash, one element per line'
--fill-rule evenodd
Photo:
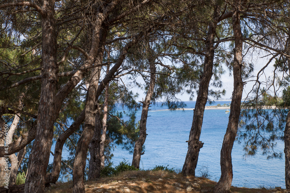
<path fill-rule="evenodd" d="M 284 135 L 287 112 L 284 107 L 279 108 L 283 99 L 272 96 L 269 89 L 257 89 L 255 92 L 257 95 L 243 104 L 238 140 L 244 140 L 247 156 L 254 156 L 261 149 L 262 155 L 267 155 L 267 159 L 282 159 L 282 152 L 275 152 L 274 148 L 276 140 L 283 139 Z M 285 91 L 285 97 L 286 93 Z"/>

